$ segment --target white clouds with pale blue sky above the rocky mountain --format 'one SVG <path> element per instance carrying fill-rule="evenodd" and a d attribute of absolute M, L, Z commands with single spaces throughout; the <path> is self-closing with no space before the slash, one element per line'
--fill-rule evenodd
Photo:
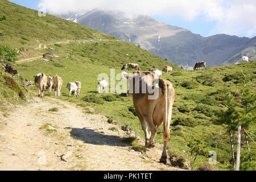
<path fill-rule="evenodd" d="M 51 14 L 80 13 L 92 9 L 180 17 L 216 22 L 210 34 L 256 35 L 255 0 L 42 0 Z"/>

